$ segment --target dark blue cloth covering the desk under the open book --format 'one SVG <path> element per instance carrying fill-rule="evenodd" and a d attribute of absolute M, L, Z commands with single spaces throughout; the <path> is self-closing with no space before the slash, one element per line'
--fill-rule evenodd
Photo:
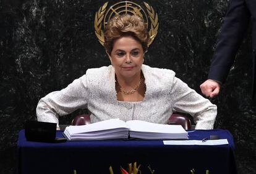
<path fill-rule="evenodd" d="M 65 143 L 39 143 L 27 141 L 24 130 L 19 133 L 18 173 L 68 173 L 77 174 L 121 173 L 120 166 L 137 162 L 142 174 L 150 173 L 148 166 L 156 174 L 236 173 L 233 136 L 228 130 L 189 131 L 190 140 L 202 140 L 210 135 L 228 139 L 229 144 L 217 146 L 164 145 L 162 140 L 104 140 L 67 141 Z M 57 132 L 57 137 L 63 137 Z"/>

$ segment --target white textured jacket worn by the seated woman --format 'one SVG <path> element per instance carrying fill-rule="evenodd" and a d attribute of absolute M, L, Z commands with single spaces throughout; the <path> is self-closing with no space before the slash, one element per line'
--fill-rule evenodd
<path fill-rule="evenodd" d="M 203 98 L 169 69 L 142 65 L 146 93 L 143 101 L 117 101 L 113 66 L 88 69 L 65 89 L 41 98 L 36 108 L 38 121 L 56 122 L 76 109 L 88 108 L 92 122 L 119 118 L 166 124 L 174 111 L 194 117 L 195 129 L 213 129 L 216 105 Z"/>

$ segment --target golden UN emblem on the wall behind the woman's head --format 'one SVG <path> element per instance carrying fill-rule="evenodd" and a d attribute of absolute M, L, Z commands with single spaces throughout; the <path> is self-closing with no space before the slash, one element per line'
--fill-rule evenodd
<path fill-rule="evenodd" d="M 100 44 L 104 45 L 103 29 L 108 24 L 108 21 L 114 17 L 114 15 L 130 14 L 139 15 L 139 17 L 143 18 L 144 22 L 147 24 L 147 28 L 150 25 L 150 29 L 148 28 L 148 33 L 150 35 L 150 39 L 148 41 L 149 46 L 158 33 L 158 15 L 155 13 L 155 10 L 152 6 L 146 2 L 143 2 L 143 4 L 145 5 L 147 13 L 139 4 L 130 1 L 117 2 L 113 6 L 109 7 L 109 9 L 107 9 L 108 2 L 101 6 L 98 12 L 95 14 L 94 21 L 95 34 Z M 150 24 L 148 19 L 150 19 Z"/>

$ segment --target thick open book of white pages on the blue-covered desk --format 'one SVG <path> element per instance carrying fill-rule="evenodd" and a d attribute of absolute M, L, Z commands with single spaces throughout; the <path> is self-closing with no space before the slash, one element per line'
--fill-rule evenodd
<path fill-rule="evenodd" d="M 88 125 L 70 125 L 64 130 L 69 141 L 140 138 L 146 140 L 187 140 L 181 125 L 109 119 Z"/>

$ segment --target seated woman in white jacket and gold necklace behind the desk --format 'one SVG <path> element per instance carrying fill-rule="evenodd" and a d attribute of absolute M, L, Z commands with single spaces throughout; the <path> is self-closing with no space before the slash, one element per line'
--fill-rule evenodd
<path fill-rule="evenodd" d="M 105 30 L 105 49 L 111 65 L 88 69 L 61 91 L 41 98 L 38 121 L 88 108 L 92 122 L 119 118 L 166 124 L 174 111 L 194 117 L 195 129 L 213 129 L 216 106 L 190 89 L 169 69 L 142 65 L 148 31 L 140 17 L 120 15 Z"/>

